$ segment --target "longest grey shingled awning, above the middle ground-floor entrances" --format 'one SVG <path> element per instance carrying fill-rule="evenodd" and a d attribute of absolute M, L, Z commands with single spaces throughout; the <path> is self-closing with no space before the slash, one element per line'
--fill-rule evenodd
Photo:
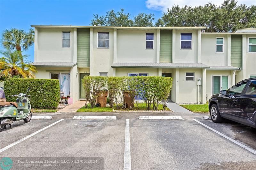
<path fill-rule="evenodd" d="M 113 63 L 112 68 L 210 68 L 199 63 Z"/>

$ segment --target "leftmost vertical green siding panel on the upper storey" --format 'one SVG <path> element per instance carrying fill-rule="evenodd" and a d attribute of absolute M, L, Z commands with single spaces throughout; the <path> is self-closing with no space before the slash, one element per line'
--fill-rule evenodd
<path fill-rule="evenodd" d="M 77 28 L 77 67 L 90 67 L 90 29 Z"/>

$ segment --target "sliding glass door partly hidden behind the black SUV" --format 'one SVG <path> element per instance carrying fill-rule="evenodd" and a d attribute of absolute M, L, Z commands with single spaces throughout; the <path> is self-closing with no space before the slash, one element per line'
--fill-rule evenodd
<path fill-rule="evenodd" d="M 212 94 L 219 94 L 221 90 L 228 90 L 228 76 L 213 76 Z"/>

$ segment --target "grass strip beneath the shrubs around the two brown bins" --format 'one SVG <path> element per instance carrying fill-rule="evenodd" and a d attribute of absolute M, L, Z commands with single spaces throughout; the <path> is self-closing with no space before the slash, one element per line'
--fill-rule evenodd
<path fill-rule="evenodd" d="M 93 107 L 93 108 L 90 108 L 90 107 L 91 107 L 91 105 L 88 104 L 88 108 L 85 108 L 85 106 L 83 106 L 80 109 L 78 109 L 76 112 L 112 112 L 113 111 L 113 108 L 111 108 L 111 107 Z M 114 106 L 114 108 L 116 109 L 115 106 Z M 120 109 L 120 110 L 124 110 L 124 109 Z M 136 104 L 134 104 L 133 110 L 135 110 L 135 111 L 136 110 L 147 110 L 146 103 L 139 103 L 138 107 Z M 150 107 L 150 110 L 153 110 L 152 105 Z M 164 110 L 162 104 L 160 104 L 158 106 L 158 110 Z M 170 109 L 166 107 L 166 110 L 170 110 Z"/>

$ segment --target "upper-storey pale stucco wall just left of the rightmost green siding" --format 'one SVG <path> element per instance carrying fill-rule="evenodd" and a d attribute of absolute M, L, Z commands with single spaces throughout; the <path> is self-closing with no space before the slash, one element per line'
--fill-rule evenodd
<path fill-rule="evenodd" d="M 223 53 L 216 53 L 216 38 L 223 38 Z M 202 34 L 201 60 L 203 64 L 209 66 L 228 65 L 228 39 L 227 35 Z"/>

